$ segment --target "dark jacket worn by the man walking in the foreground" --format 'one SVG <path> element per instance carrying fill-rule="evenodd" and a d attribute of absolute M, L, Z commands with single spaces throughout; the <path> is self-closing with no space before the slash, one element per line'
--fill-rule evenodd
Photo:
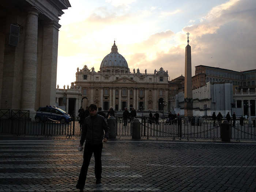
<path fill-rule="evenodd" d="M 109 127 L 104 117 L 96 114 L 95 116 L 86 117 L 82 125 L 82 136 L 80 144 L 86 143 L 99 144 L 102 143 L 105 131 L 105 138 L 109 138 Z"/>

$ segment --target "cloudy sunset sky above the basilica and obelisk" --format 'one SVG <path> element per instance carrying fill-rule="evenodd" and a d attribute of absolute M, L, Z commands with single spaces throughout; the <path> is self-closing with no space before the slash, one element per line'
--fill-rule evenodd
<path fill-rule="evenodd" d="M 57 84 L 87 65 L 99 71 L 116 41 L 130 71 L 185 74 L 189 33 L 195 66 L 256 69 L 256 0 L 69 0 L 60 17 Z"/>

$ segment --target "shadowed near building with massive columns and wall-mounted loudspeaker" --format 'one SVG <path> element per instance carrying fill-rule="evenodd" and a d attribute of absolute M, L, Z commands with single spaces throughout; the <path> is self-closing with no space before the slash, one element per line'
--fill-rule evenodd
<path fill-rule="evenodd" d="M 54 105 L 59 16 L 68 0 L 0 2 L 0 109 Z"/>

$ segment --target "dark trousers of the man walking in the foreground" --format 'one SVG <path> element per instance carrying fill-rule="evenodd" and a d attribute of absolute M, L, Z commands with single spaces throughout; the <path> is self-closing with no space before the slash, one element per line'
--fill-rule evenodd
<path fill-rule="evenodd" d="M 83 165 L 80 170 L 80 175 L 78 179 L 78 185 L 80 187 L 84 187 L 85 180 L 87 176 L 87 170 L 90 164 L 91 155 L 94 154 L 95 166 L 94 173 L 96 179 L 101 179 L 102 166 L 101 166 L 101 151 L 102 151 L 102 143 L 99 144 L 89 144 L 85 143 L 84 153 L 83 153 Z"/>

